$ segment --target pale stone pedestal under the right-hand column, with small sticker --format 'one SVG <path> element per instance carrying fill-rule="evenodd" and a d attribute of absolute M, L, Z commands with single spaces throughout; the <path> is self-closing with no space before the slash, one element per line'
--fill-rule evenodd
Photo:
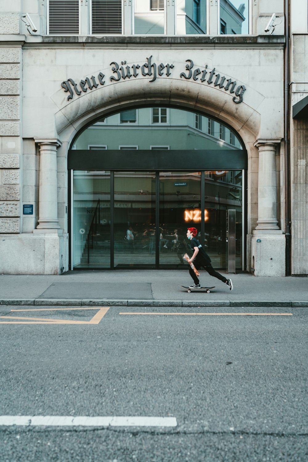
<path fill-rule="evenodd" d="M 254 230 L 250 272 L 255 276 L 285 276 L 285 235 L 281 230 Z"/>

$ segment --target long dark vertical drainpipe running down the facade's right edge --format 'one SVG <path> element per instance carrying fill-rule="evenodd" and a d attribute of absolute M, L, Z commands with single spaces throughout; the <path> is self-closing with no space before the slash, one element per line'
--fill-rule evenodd
<path fill-rule="evenodd" d="M 285 275 L 291 275 L 291 217 L 290 217 L 290 105 L 289 105 L 289 75 L 290 75 L 290 0 L 284 0 L 284 149 L 285 149 Z"/>

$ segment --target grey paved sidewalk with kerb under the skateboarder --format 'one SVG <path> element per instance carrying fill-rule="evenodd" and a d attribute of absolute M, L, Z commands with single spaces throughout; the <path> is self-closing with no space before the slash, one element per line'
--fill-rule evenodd
<path fill-rule="evenodd" d="M 69 271 L 62 275 L 0 275 L 1 305 L 308 307 L 307 277 L 255 277 L 225 274 L 226 284 L 200 272 L 211 293 L 187 293 L 193 281 L 187 270 Z"/>

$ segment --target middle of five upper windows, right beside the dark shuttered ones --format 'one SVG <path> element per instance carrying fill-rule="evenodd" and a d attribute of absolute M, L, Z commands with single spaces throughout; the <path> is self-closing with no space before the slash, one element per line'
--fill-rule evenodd
<path fill-rule="evenodd" d="M 134 33 L 136 35 L 164 34 L 164 0 L 135 0 Z"/>

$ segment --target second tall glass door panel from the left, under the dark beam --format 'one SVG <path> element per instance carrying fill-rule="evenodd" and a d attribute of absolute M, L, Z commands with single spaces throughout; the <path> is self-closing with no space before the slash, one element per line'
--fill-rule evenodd
<path fill-rule="evenodd" d="M 115 267 L 155 267 L 155 172 L 115 172 Z"/>

